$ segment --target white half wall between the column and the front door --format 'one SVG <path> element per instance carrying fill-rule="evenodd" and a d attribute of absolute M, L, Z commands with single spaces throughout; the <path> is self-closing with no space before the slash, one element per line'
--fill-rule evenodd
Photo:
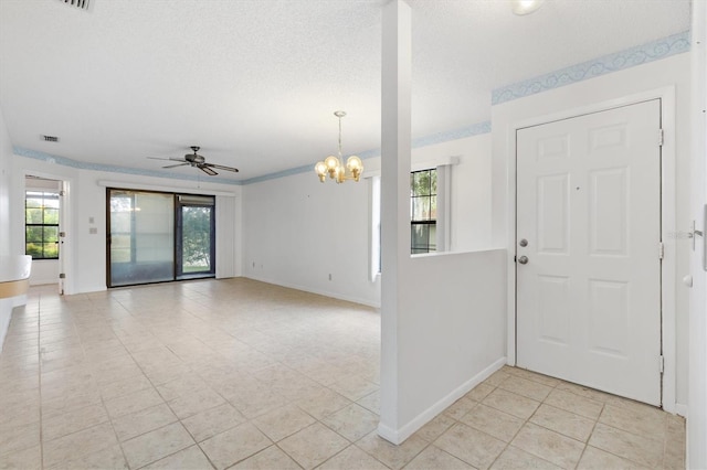
<path fill-rule="evenodd" d="M 506 363 L 506 250 L 407 260 L 398 273 L 397 428 L 402 441 Z M 386 274 L 383 274 L 386 276 Z M 382 378 L 382 377 L 381 377 Z"/>

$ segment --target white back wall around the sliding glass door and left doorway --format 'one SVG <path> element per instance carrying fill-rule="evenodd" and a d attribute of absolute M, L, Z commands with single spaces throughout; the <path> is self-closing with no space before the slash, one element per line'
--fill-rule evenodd
<path fill-rule="evenodd" d="M 75 169 L 61 164 L 51 164 L 42 160 L 14 156 L 15 181 L 24 181 L 27 174 L 41 178 L 63 180 L 68 183 L 67 203 L 71 224 L 66 227 L 64 270 L 66 273 L 65 293 L 92 292 L 106 289 L 106 188 L 101 181 L 115 182 L 116 186 L 135 189 L 154 189 L 156 191 L 175 191 L 209 194 L 213 192 L 233 193 L 236 197 L 234 220 L 240 220 L 241 186 L 210 183 L 208 181 L 184 181 L 166 178 L 143 177 L 135 174 L 113 173 Z M 14 237 L 23 239 L 24 185 L 13 189 L 11 225 Z M 89 218 L 94 222 L 91 223 Z M 96 228 L 91 234 L 89 228 Z M 235 236 L 240 243 L 240 234 Z M 22 249 L 21 243 L 15 249 Z M 22 252 L 19 252 L 22 253 Z M 218 265 L 218 259 L 217 259 Z M 236 276 L 240 273 L 235 274 Z"/>

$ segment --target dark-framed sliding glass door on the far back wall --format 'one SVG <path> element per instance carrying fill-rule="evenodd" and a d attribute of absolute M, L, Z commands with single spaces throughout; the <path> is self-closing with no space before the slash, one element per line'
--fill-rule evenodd
<path fill-rule="evenodd" d="M 108 189 L 108 287 L 215 273 L 213 196 Z"/>

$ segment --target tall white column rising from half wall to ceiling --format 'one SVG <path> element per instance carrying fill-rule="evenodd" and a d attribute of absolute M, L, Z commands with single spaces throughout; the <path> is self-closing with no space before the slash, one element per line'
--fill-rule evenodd
<path fill-rule="evenodd" d="M 411 10 L 402 0 L 383 7 L 381 129 L 381 372 L 378 434 L 398 442 L 400 423 L 399 274 L 410 263 Z"/>

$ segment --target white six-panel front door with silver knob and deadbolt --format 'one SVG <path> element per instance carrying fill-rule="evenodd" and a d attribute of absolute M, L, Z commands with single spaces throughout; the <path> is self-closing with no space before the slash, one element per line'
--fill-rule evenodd
<path fill-rule="evenodd" d="M 661 405 L 659 128 L 654 99 L 517 131 L 518 366 Z"/>

